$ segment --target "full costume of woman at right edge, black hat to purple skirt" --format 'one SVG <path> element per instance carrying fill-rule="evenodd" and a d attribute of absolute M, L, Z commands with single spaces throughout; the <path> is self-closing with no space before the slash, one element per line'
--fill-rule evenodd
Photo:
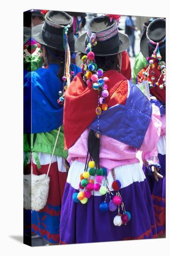
<path fill-rule="evenodd" d="M 159 235 L 165 235 L 165 35 L 165 20 L 153 20 L 140 42 L 141 52 L 149 61 L 149 65 L 137 76 L 138 82 L 149 82 L 150 94 L 157 99 L 152 99 L 151 102 L 159 107 L 161 113 L 162 127 L 157 146 L 151 151 L 148 149 L 143 152 L 143 161 L 149 164 L 149 168 L 144 165 L 143 169 L 150 184 Z M 150 169 L 152 165 L 160 167 L 160 174 L 163 175 L 163 179 L 159 179 L 158 182 Z"/>

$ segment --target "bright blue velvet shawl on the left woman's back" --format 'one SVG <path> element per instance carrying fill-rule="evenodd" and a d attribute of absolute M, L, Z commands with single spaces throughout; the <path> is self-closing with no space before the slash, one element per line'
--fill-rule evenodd
<path fill-rule="evenodd" d="M 38 68 L 24 77 L 24 133 L 49 132 L 63 123 L 63 106 L 57 103 L 63 82 L 57 76 L 59 65 Z M 78 74 L 81 69 L 71 64 Z"/>

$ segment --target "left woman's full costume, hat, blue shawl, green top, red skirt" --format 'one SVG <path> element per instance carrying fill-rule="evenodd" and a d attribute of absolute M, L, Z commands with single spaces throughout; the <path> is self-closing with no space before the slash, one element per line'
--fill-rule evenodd
<path fill-rule="evenodd" d="M 25 232 L 30 230 L 28 230 L 30 223 L 27 221 L 31 216 L 31 231 L 50 243 L 59 243 L 61 200 L 67 177 L 65 164 L 67 151 L 63 151 L 62 128 L 64 91 L 74 74 L 80 71 L 80 68 L 70 65 L 69 62 L 70 51 L 75 51 L 72 24 L 73 19 L 67 13 L 49 11 L 46 13 L 45 23 L 32 29 L 33 40 L 45 47 L 66 52 L 64 85 L 58 76 L 60 65 L 55 63 L 49 63 L 47 68 L 38 68 L 26 74 L 24 78 L 25 174 L 30 173 L 30 151 L 34 175 L 46 174 L 50 168 L 46 206 L 39 211 L 25 211 Z M 55 148 L 58 133 L 59 138 Z"/>

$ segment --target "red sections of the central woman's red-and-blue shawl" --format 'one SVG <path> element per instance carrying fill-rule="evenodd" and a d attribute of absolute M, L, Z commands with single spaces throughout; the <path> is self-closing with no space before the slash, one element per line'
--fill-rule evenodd
<path fill-rule="evenodd" d="M 128 92 L 125 77 L 115 70 L 106 71 L 104 74 L 110 79 L 108 83 L 109 96 L 105 103 L 108 104 L 108 107 L 125 104 Z M 82 73 L 78 73 L 65 91 L 63 117 L 65 149 L 72 147 L 96 118 L 97 106 L 98 91 L 92 88 L 92 83 L 86 86 L 82 79 Z"/>

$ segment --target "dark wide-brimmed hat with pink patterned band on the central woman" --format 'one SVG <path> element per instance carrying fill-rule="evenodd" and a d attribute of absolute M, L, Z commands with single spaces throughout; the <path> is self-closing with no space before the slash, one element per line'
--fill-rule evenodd
<path fill-rule="evenodd" d="M 94 17 L 89 21 L 87 33 L 80 36 L 75 43 L 76 49 L 86 53 L 85 48 L 89 43 L 92 33 L 96 34 L 97 45 L 93 52 L 97 56 L 115 55 L 124 52 L 130 44 L 129 38 L 118 32 L 118 23 L 108 16 Z"/>

